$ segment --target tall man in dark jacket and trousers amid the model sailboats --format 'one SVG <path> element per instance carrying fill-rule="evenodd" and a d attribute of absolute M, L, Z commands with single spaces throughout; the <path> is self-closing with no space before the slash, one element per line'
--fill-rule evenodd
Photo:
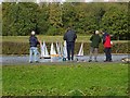
<path fill-rule="evenodd" d="M 74 49 L 75 49 L 75 40 L 77 38 L 77 35 L 75 33 L 75 30 L 70 29 L 70 27 L 68 27 L 67 32 L 65 33 L 63 39 L 66 40 L 67 42 L 67 58 L 68 61 L 72 59 L 72 61 L 74 60 Z M 72 52 L 72 58 L 70 58 L 70 52 Z"/>

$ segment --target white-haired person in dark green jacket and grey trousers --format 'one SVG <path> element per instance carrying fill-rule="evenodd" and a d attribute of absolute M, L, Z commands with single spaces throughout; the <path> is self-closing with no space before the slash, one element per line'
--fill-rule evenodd
<path fill-rule="evenodd" d="M 90 58 L 89 58 L 89 62 L 92 61 L 92 54 L 94 53 L 94 61 L 98 62 L 98 50 L 99 50 L 99 46 L 101 42 L 101 37 L 99 35 L 99 30 L 95 30 L 95 33 L 90 37 L 90 41 L 91 41 L 91 47 L 90 47 Z"/>

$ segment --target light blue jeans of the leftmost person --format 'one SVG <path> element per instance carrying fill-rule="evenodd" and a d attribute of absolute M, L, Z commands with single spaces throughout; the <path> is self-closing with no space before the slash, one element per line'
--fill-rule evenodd
<path fill-rule="evenodd" d="M 32 62 L 32 60 L 38 61 L 38 48 L 37 47 L 30 47 L 29 50 L 29 62 Z"/>

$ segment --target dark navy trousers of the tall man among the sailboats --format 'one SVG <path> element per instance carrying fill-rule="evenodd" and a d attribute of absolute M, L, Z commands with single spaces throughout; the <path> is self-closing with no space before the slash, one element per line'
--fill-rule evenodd
<path fill-rule="evenodd" d="M 72 53 L 72 60 L 74 60 L 74 49 L 75 49 L 75 42 L 67 41 L 67 58 L 68 58 L 68 60 L 70 60 L 70 53 Z"/>

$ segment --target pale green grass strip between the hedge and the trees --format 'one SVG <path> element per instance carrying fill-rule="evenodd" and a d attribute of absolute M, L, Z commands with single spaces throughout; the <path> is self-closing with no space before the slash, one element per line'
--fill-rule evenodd
<path fill-rule="evenodd" d="M 37 35 L 38 39 L 46 42 L 56 42 L 63 41 L 63 36 L 43 36 Z M 78 36 L 77 41 L 89 41 L 90 35 L 88 36 Z M 29 42 L 29 36 L 2 36 L 2 41 L 12 41 L 12 42 Z"/>

